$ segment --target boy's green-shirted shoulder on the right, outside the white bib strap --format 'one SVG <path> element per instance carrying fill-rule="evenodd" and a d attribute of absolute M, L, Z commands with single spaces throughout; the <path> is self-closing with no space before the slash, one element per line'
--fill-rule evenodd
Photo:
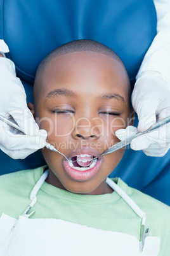
<path fill-rule="evenodd" d="M 149 229 L 150 236 L 157 236 L 162 239 L 161 247 L 167 248 L 169 253 L 170 238 L 170 207 L 154 197 L 148 196 L 135 188 L 129 187 L 121 179 L 117 179 L 117 185 L 128 194 L 146 216 L 146 228 Z M 124 204 L 124 203 L 122 203 Z M 126 209 L 126 210 L 125 210 Z M 125 215 L 127 208 L 124 207 Z M 162 250 L 162 249 L 161 249 Z M 167 254 L 164 254 L 167 255 Z"/>

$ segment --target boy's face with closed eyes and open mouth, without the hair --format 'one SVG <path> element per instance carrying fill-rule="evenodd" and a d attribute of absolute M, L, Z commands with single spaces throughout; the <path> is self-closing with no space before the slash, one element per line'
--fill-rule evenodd
<path fill-rule="evenodd" d="M 36 79 L 37 86 L 37 123 L 48 131 L 48 142 L 68 159 L 81 154 L 99 157 L 119 142 L 114 132 L 128 125 L 130 109 L 128 78 L 117 60 L 95 52 L 55 57 Z M 99 157 L 94 167 L 83 171 L 75 169 L 77 162 L 71 167 L 60 153 L 43 148 L 42 154 L 51 185 L 74 193 L 106 194 L 111 190 L 105 180 L 124 149 Z"/>

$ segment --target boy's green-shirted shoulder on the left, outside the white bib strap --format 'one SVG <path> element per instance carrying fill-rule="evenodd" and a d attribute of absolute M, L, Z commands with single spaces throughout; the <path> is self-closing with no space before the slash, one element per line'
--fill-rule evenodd
<path fill-rule="evenodd" d="M 0 176 L 0 216 L 2 213 L 14 218 L 20 215 L 29 205 L 30 192 L 43 171 L 44 166 Z"/>

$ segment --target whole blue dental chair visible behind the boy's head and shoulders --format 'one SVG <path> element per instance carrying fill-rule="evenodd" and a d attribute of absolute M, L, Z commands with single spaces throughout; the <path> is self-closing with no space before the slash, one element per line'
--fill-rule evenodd
<path fill-rule="evenodd" d="M 28 102 L 33 102 L 41 60 L 75 39 L 93 39 L 112 48 L 124 62 L 133 87 L 157 33 L 152 0 L 0 0 L 0 11 L 0 39 L 10 48 L 6 57 L 15 62 Z M 24 160 L 11 159 L 0 151 L 0 159 L 0 174 L 45 164 L 40 150 Z M 170 205 L 170 152 L 157 158 L 128 148 L 113 176 Z"/>

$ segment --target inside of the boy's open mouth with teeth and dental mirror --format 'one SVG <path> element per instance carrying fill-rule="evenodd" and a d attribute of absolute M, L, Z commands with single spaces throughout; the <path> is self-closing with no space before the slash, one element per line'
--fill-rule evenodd
<path fill-rule="evenodd" d="M 88 154 L 81 154 L 71 157 L 69 159 L 69 166 L 78 171 L 87 171 L 95 167 L 98 162 L 98 158 Z"/>

